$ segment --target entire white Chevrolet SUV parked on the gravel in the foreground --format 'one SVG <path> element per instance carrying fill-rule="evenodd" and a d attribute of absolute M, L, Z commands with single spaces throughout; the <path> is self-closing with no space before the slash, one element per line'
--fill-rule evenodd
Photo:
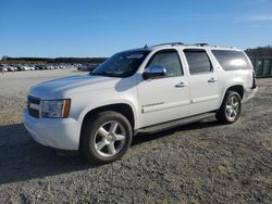
<path fill-rule="evenodd" d="M 104 164 L 123 156 L 138 132 L 211 115 L 234 123 L 256 91 L 243 51 L 164 43 L 116 53 L 86 76 L 33 87 L 24 124 L 37 142 Z"/>

